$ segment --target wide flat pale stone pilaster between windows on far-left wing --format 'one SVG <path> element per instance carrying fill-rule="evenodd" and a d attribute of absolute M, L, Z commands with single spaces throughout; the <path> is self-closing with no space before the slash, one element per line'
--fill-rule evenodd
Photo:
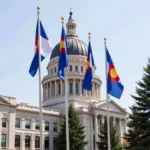
<path fill-rule="evenodd" d="M 15 108 L 10 108 L 9 112 L 9 125 L 8 125 L 8 149 L 15 150 L 15 120 L 16 120 L 16 110 Z"/>

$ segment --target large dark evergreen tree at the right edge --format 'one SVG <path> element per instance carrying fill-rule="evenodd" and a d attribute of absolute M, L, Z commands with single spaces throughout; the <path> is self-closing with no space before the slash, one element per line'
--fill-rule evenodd
<path fill-rule="evenodd" d="M 126 149 L 130 150 L 150 149 L 150 59 L 143 70 L 142 81 L 137 83 L 136 96 L 132 95 L 135 104 L 130 108 L 129 130 L 125 134 L 129 145 Z"/>

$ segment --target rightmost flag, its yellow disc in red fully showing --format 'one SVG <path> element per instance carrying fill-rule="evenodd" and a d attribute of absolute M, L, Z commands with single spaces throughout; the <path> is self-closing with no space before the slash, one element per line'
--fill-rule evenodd
<path fill-rule="evenodd" d="M 107 93 L 113 97 L 120 99 L 124 86 L 121 84 L 120 78 L 117 74 L 114 63 L 106 47 L 107 59 Z"/>

